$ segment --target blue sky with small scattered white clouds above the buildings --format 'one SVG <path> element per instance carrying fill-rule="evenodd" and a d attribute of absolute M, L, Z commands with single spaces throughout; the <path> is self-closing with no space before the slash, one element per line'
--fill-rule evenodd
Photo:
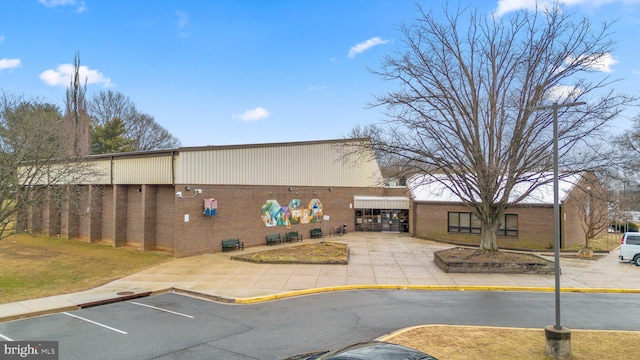
<path fill-rule="evenodd" d="M 561 2 L 596 23 L 618 20 L 602 70 L 639 95 L 640 0 Z M 336 139 L 383 119 L 367 103 L 392 85 L 367 68 L 401 46 L 397 27 L 415 16 L 413 0 L 4 0 L 0 90 L 62 106 L 79 52 L 88 96 L 130 97 L 183 146 Z"/>

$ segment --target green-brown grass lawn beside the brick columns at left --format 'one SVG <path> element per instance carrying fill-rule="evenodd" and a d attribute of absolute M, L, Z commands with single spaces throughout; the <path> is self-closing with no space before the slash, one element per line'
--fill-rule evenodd
<path fill-rule="evenodd" d="M 12 235 L 0 240 L 0 304 L 91 289 L 172 258 L 133 247 Z"/>

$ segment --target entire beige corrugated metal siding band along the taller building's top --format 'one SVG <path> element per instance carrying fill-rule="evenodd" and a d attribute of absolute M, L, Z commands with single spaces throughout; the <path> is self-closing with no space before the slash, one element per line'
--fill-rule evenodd
<path fill-rule="evenodd" d="M 114 154 L 88 162 L 80 184 L 220 184 L 383 186 L 373 156 L 345 163 L 339 141 L 181 148 L 161 154 Z M 174 163 L 175 157 L 175 163 Z M 175 177 L 175 179 L 174 179 Z M 46 182 L 46 179 L 45 179 Z"/>

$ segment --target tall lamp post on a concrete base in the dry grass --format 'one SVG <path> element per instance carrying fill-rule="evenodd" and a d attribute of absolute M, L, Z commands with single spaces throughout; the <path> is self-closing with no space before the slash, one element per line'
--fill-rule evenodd
<path fill-rule="evenodd" d="M 558 109 L 584 105 L 585 102 L 572 102 L 566 104 L 553 103 L 548 106 L 536 106 L 531 110 L 553 110 L 553 240 L 555 262 L 555 300 L 556 323 L 553 328 L 545 328 L 546 346 L 548 356 L 557 359 L 566 359 L 571 356 L 571 332 L 562 327 L 560 321 L 560 204 L 558 199 Z"/>

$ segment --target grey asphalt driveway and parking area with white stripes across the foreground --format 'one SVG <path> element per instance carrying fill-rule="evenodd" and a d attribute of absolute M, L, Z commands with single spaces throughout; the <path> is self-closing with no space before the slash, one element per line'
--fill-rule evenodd
<path fill-rule="evenodd" d="M 58 341 L 60 359 L 281 359 L 423 324 L 534 327 L 553 294 L 362 290 L 250 305 L 163 294 L 0 323 L 0 337 Z M 573 329 L 637 330 L 637 294 L 563 294 Z"/>

